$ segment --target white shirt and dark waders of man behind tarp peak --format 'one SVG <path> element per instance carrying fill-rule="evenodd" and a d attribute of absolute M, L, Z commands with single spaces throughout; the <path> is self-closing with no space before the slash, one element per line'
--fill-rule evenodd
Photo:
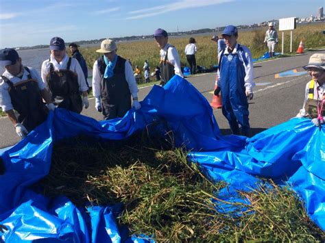
<path fill-rule="evenodd" d="M 173 77 L 179 75 L 183 77 L 182 70 L 180 69 L 180 57 L 175 47 L 171 44 L 166 44 L 164 49 L 160 49 L 160 73 L 162 86 Z"/>

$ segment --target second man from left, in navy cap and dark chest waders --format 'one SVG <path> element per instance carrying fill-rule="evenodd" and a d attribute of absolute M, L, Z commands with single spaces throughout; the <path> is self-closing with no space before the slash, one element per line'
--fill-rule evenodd
<path fill-rule="evenodd" d="M 41 77 L 52 94 L 56 107 L 80 113 L 88 108 L 88 87 L 79 62 L 67 55 L 64 40 L 53 37 L 51 55 L 42 64 Z M 80 96 L 82 93 L 82 97 Z"/>

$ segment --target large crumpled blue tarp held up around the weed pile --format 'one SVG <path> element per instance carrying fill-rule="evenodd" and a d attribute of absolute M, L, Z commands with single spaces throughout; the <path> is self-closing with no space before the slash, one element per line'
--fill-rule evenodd
<path fill-rule="evenodd" d="M 224 179 L 234 189 L 254 186 L 255 175 L 292 183 L 311 219 L 325 229 L 324 127 L 319 131 L 310 120 L 294 118 L 250 139 L 221 136 L 208 101 L 177 75 L 164 88 L 154 86 L 141 105 L 141 110 L 130 110 L 123 118 L 100 122 L 56 109 L 27 138 L 3 152 L 0 224 L 8 231 L 0 233 L 1 239 L 145 242 L 130 238 L 128 229 L 117 225 L 120 205 L 77 208 L 65 196 L 47 199 L 28 187 L 49 173 L 53 143 L 62 138 L 86 134 L 121 140 L 159 121 L 173 131 L 178 146 L 185 144 L 193 151 L 189 157 L 208 176 Z"/>

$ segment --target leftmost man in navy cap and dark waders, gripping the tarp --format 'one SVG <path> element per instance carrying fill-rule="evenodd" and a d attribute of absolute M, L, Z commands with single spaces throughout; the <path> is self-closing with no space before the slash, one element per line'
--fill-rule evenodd
<path fill-rule="evenodd" d="M 23 66 L 16 50 L 0 50 L 0 66 L 5 68 L 0 77 L 1 108 L 14 124 L 18 136 L 25 138 L 56 106 L 51 103 L 51 94 L 40 75 L 34 68 Z"/>

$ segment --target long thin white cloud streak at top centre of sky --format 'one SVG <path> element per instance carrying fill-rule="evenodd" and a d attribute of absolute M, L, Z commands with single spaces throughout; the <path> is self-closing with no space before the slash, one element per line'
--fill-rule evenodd
<path fill-rule="evenodd" d="M 182 0 L 177 1 L 176 3 L 170 3 L 167 5 L 158 5 L 153 8 L 144 8 L 142 10 L 135 10 L 129 12 L 129 14 L 136 14 L 134 16 L 127 17 L 125 19 L 138 19 L 138 18 L 147 18 L 149 16 L 155 16 L 159 14 L 164 14 L 166 12 L 172 12 L 176 10 L 184 10 L 186 8 L 200 8 L 206 7 L 209 5 L 216 5 L 220 3 L 228 3 L 234 0 Z"/>

